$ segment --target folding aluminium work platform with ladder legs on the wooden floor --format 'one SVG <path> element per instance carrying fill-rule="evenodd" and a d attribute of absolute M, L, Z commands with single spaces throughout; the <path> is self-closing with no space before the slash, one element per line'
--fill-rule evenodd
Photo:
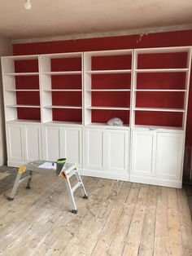
<path fill-rule="evenodd" d="M 18 186 L 20 185 L 20 183 L 23 183 L 25 180 L 28 180 L 26 189 L 30 188 L 30 183 L 31 183 L 31 179 L 33 176 L 33 172 L 42 173 L 42 174 L 48 174 L 48 173 L 56 174 L 56 170 L 55 170 L 54 166 L 53 166 L 53 168 L 50 167 L 49 169 L 39 167 L 45 163 L 50 163 L 50 166 L 52 165 L 51 162 L 47 162 L 47 161 L 33 161 L 33 162 L 28 163 L 26 166 L 20 166 L 20 168 L 18 170 L 18 174 L 15 179 L 14 186 L 11 190 L 11 194 L 7 199 L 9 201 L 14 200 L 15 193 L 17 191 Z M 28 172 L 28 174 L 25 174 L 26 172 Z M 77 180 L 77 183 L 74 187 L 72 187 L 72 185 L 70 183 L 70 178 L 73 175 L 76 176 L 76 180 Z M 81 175 L 79 174 L 79 171 L 78 171 L 76 165 L 72 164 L 72 163 L 66 163 L 63 166 L 63 169 L 59 172 L 59 177 L 63 178 L 63 180 L 67 186 L 68 196 L 72 203 L 72 213 L 77 214 L 76 202 L 74 199 L 74 192 L 76 191 L 77 188 L 81 188 L 83 198 L 87 199 L 88 196 L 87 196 L 87 192 L 85 191 L 85 187 L 82 182 Z"/>

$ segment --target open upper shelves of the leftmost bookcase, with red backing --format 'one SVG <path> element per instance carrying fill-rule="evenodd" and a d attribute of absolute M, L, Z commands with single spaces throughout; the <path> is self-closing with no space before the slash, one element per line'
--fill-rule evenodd
<path fill-rule="evenodd" d="M 38 55 L 2 57 L 2 82 L 6 121 L 23 119 L 18 108 L 25 108 L 29 120 L 35 108 L 35 119 L 40 121 Z"/>

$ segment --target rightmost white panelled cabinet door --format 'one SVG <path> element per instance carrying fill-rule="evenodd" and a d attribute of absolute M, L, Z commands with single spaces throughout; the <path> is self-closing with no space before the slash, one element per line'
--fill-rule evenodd
<path fill-rule="evenodd" d="M 181 133 L 158 133 L 156 175 L 162 179 L 181 179 L 184 136 Z"/>

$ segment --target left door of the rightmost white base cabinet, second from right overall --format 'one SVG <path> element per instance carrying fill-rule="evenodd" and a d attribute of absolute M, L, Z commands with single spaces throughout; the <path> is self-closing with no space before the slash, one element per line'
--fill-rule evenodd
<path fill-rule="evenodd" d="M 133 175 L 155 175 L 155 145 L 155 131 L 133 130 L 131 157 L 131 170 Z"/>

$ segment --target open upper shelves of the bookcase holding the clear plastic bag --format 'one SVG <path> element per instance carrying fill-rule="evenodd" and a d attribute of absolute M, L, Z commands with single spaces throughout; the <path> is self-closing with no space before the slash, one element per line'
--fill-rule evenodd
<path fill-rule="evenodd" d="M 129 126 L 133 50 L 84 54 L 85 126 L 121 117 Z"/>

